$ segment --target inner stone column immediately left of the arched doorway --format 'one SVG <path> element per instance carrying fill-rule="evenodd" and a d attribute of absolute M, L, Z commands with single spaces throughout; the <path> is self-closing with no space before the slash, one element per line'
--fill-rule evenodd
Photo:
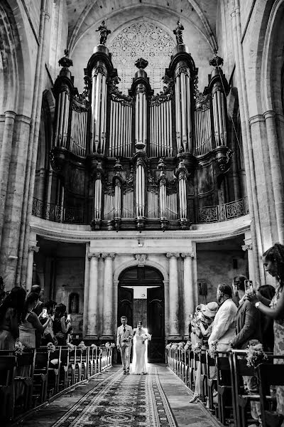
<path fill-rule="evenodd" d="M 102 253 L 104 258 L 104 313 L 102 339 L 114 339 L 113 328 L 113 299 L 114 288 L 112 284 L 112 263 L 114 253 Z"/>

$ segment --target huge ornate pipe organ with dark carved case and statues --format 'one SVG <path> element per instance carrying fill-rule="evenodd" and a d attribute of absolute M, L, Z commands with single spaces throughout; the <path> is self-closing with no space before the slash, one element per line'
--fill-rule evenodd
<path fill-rule="evenodd" d="M 187 46 L 178 44 L 163 91 L 153 94 L 148 62 L 138 58 L 129 95 L 123 95 L 111 53 L 99 45 L 78 94 L 69 70 L 72 61 L 66 53 L 60 60 L 50 158 L 59 175 L 80 169 L 93 230 L 185 229 L 195 222 L 198 174 L 209 163 L 217 171 L 214 176 L 224 174 L 231 157 L 222 58 L 215 55 L 210 64 L 209 85 L 200 93 L 194 60 Z M 71 187 L 65 199 L 74 201 Z M 210 194 L 218 199 L 217 193 L 213 186 Z"/>

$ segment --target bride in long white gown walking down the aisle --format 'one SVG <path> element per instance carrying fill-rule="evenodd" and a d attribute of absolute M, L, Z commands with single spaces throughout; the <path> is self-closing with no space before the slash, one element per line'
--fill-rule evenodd
<path fill-rule="evenodd" d="M 138 322 L 133 332 L 133 374 L 147 374 L 148 339 L 151 340 L 151 335 L 143 330 L 142 322 Z"/>

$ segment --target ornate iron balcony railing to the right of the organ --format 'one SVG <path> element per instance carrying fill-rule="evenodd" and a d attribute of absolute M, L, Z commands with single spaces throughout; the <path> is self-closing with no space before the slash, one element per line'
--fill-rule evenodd
<path fill-rule="evenodd" d="M 198 210 L 199 223 L 228 221 L 249 214 L 248 198 L 230 201 L 217 206 L 204 206 Z"/>

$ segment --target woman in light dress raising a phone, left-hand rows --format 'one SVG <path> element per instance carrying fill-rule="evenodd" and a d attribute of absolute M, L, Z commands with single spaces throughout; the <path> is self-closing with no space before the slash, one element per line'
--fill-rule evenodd
<path fill-rule="evenodd" d="M 35 348 L 35 331 L 38 331 L 41 336 L 50 322 L 50 317 L 48 316 L 44 325 L 41 325 L 40 321 L 38 320 L 38 316 L 35 314 L 35 312 L 33 312 L 33 309 L 37 304 L 38 293 L 30 292 L 26 297 L 21 317 L 22 322 L 19 327 L 19 340 L 25 347 L 30 349 Z"/>

